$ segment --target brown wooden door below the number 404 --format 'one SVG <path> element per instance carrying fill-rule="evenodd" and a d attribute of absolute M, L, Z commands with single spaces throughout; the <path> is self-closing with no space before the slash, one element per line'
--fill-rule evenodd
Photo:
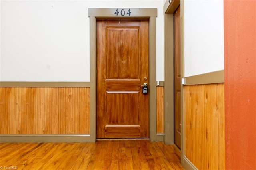
<path fill-rule="evenodd" d="M 148 21 L 97 21 L 97 138 L 148 138 Z"/>

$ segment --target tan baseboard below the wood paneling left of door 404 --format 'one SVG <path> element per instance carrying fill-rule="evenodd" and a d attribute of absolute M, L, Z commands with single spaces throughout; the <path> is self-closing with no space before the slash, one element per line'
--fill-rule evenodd
<path fill-rule="evenodd" d="M 0 143 L 95 142 L 90 134 L 1 134 Z"/>

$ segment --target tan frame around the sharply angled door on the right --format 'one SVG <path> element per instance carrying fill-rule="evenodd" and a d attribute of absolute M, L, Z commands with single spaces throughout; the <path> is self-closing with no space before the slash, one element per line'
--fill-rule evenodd
<path fill-rule="evenodd" d="M 174 144 L 174 12 L 180 6 L 180 68 L 184 77 L 184 0 L 164 4 L 164 142 Z M 181 163 L 184 155 L 184 88 L 181 87 Z"/>

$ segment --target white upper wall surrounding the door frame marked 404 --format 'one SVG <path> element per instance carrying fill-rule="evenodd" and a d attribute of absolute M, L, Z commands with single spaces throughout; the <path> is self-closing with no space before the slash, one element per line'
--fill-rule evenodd
<path fill-rule="evenodd" d="M 163 0 L 1 1 L 0 81 L 90 81 L 88 8 L 158 8 L 157 77 L 163 81 Z"/>

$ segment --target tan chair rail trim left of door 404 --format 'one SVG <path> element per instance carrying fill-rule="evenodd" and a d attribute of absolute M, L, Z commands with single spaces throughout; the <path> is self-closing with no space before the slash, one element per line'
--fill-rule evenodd
<path fill-rule="evenodd" d="M 0 81 L 0 87 L 90 87 L 90 82 Z"/>

